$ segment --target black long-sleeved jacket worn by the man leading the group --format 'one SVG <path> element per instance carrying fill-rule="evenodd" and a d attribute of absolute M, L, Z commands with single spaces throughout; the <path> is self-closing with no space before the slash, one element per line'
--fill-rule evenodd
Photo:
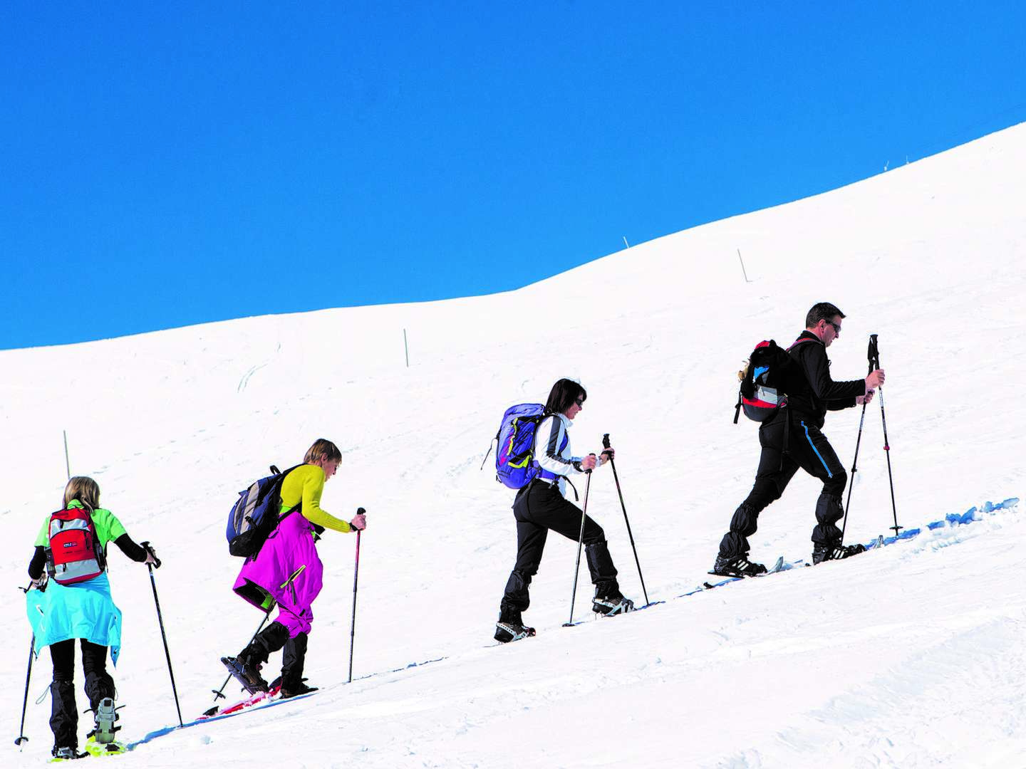
<path fill-rule="evenodd" d="M 811 331 L 802 331 L 788 355 L 804 376 L 792 375 L 787 388 L 787 409 L 792 416 L 808 419 L 823 427 L 827 411 L 855 405 L 866 393 L 864 379 L 834 381 L 830 378 L 830 359 L 826 346 Z"/>

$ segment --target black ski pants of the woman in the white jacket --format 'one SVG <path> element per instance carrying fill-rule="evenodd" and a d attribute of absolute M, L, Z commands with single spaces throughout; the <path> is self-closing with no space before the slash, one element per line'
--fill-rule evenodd
<path fill-rule="evenodd" d="M 527 589 L 542 563 L 549 531 L 577 541 L 581 533 L 581 509 L 560 494 L 557 486 L 535 480 L 517 492 L 513 517 L 516 519 L 516 565 L 506 582 L 499 619 L 519 624 L 522 623 L 520 612 L 530 605 Z M 590 516 L 584 520 L 584 543 L 596 597 L 620 598 L 617 568 L 613 565 L 605 532 Z"/>

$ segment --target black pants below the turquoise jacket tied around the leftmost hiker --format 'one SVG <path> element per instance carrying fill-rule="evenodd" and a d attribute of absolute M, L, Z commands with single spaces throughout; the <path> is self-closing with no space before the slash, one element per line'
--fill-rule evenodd
<path fill-rule="evenodd" d="M 107 672 L 107 647 L 81 640 L 85 696 L 93 711 L 104 697 L 114 696 L 114 679 Z M 75 639 L 50 644 L 53 683 L 50 684 L 50 729 L 54 747 L 78 747 L 78 709 L 75 705 Z"/>

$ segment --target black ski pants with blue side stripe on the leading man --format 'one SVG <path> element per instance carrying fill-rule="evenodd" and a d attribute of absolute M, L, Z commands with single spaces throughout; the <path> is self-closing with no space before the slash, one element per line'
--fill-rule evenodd
<path fill-rule="evenodd" d="M 755 533 L 759 513 L 780 499 L 799 468 L 823 481 L 823 491 L 816 501 L 813 541 L 840 544 L 841 533 L 836 523 L 844 515 L 841 494 L 847 473 L 827 437 L 807 417 L 785 411 L 759 428 L 759 444 L 762 453 L 755 485 L 735 511 L 731 530 L 719 543 L 719 555 L 734 559 L 748 554 L 748 537 Z"/>

